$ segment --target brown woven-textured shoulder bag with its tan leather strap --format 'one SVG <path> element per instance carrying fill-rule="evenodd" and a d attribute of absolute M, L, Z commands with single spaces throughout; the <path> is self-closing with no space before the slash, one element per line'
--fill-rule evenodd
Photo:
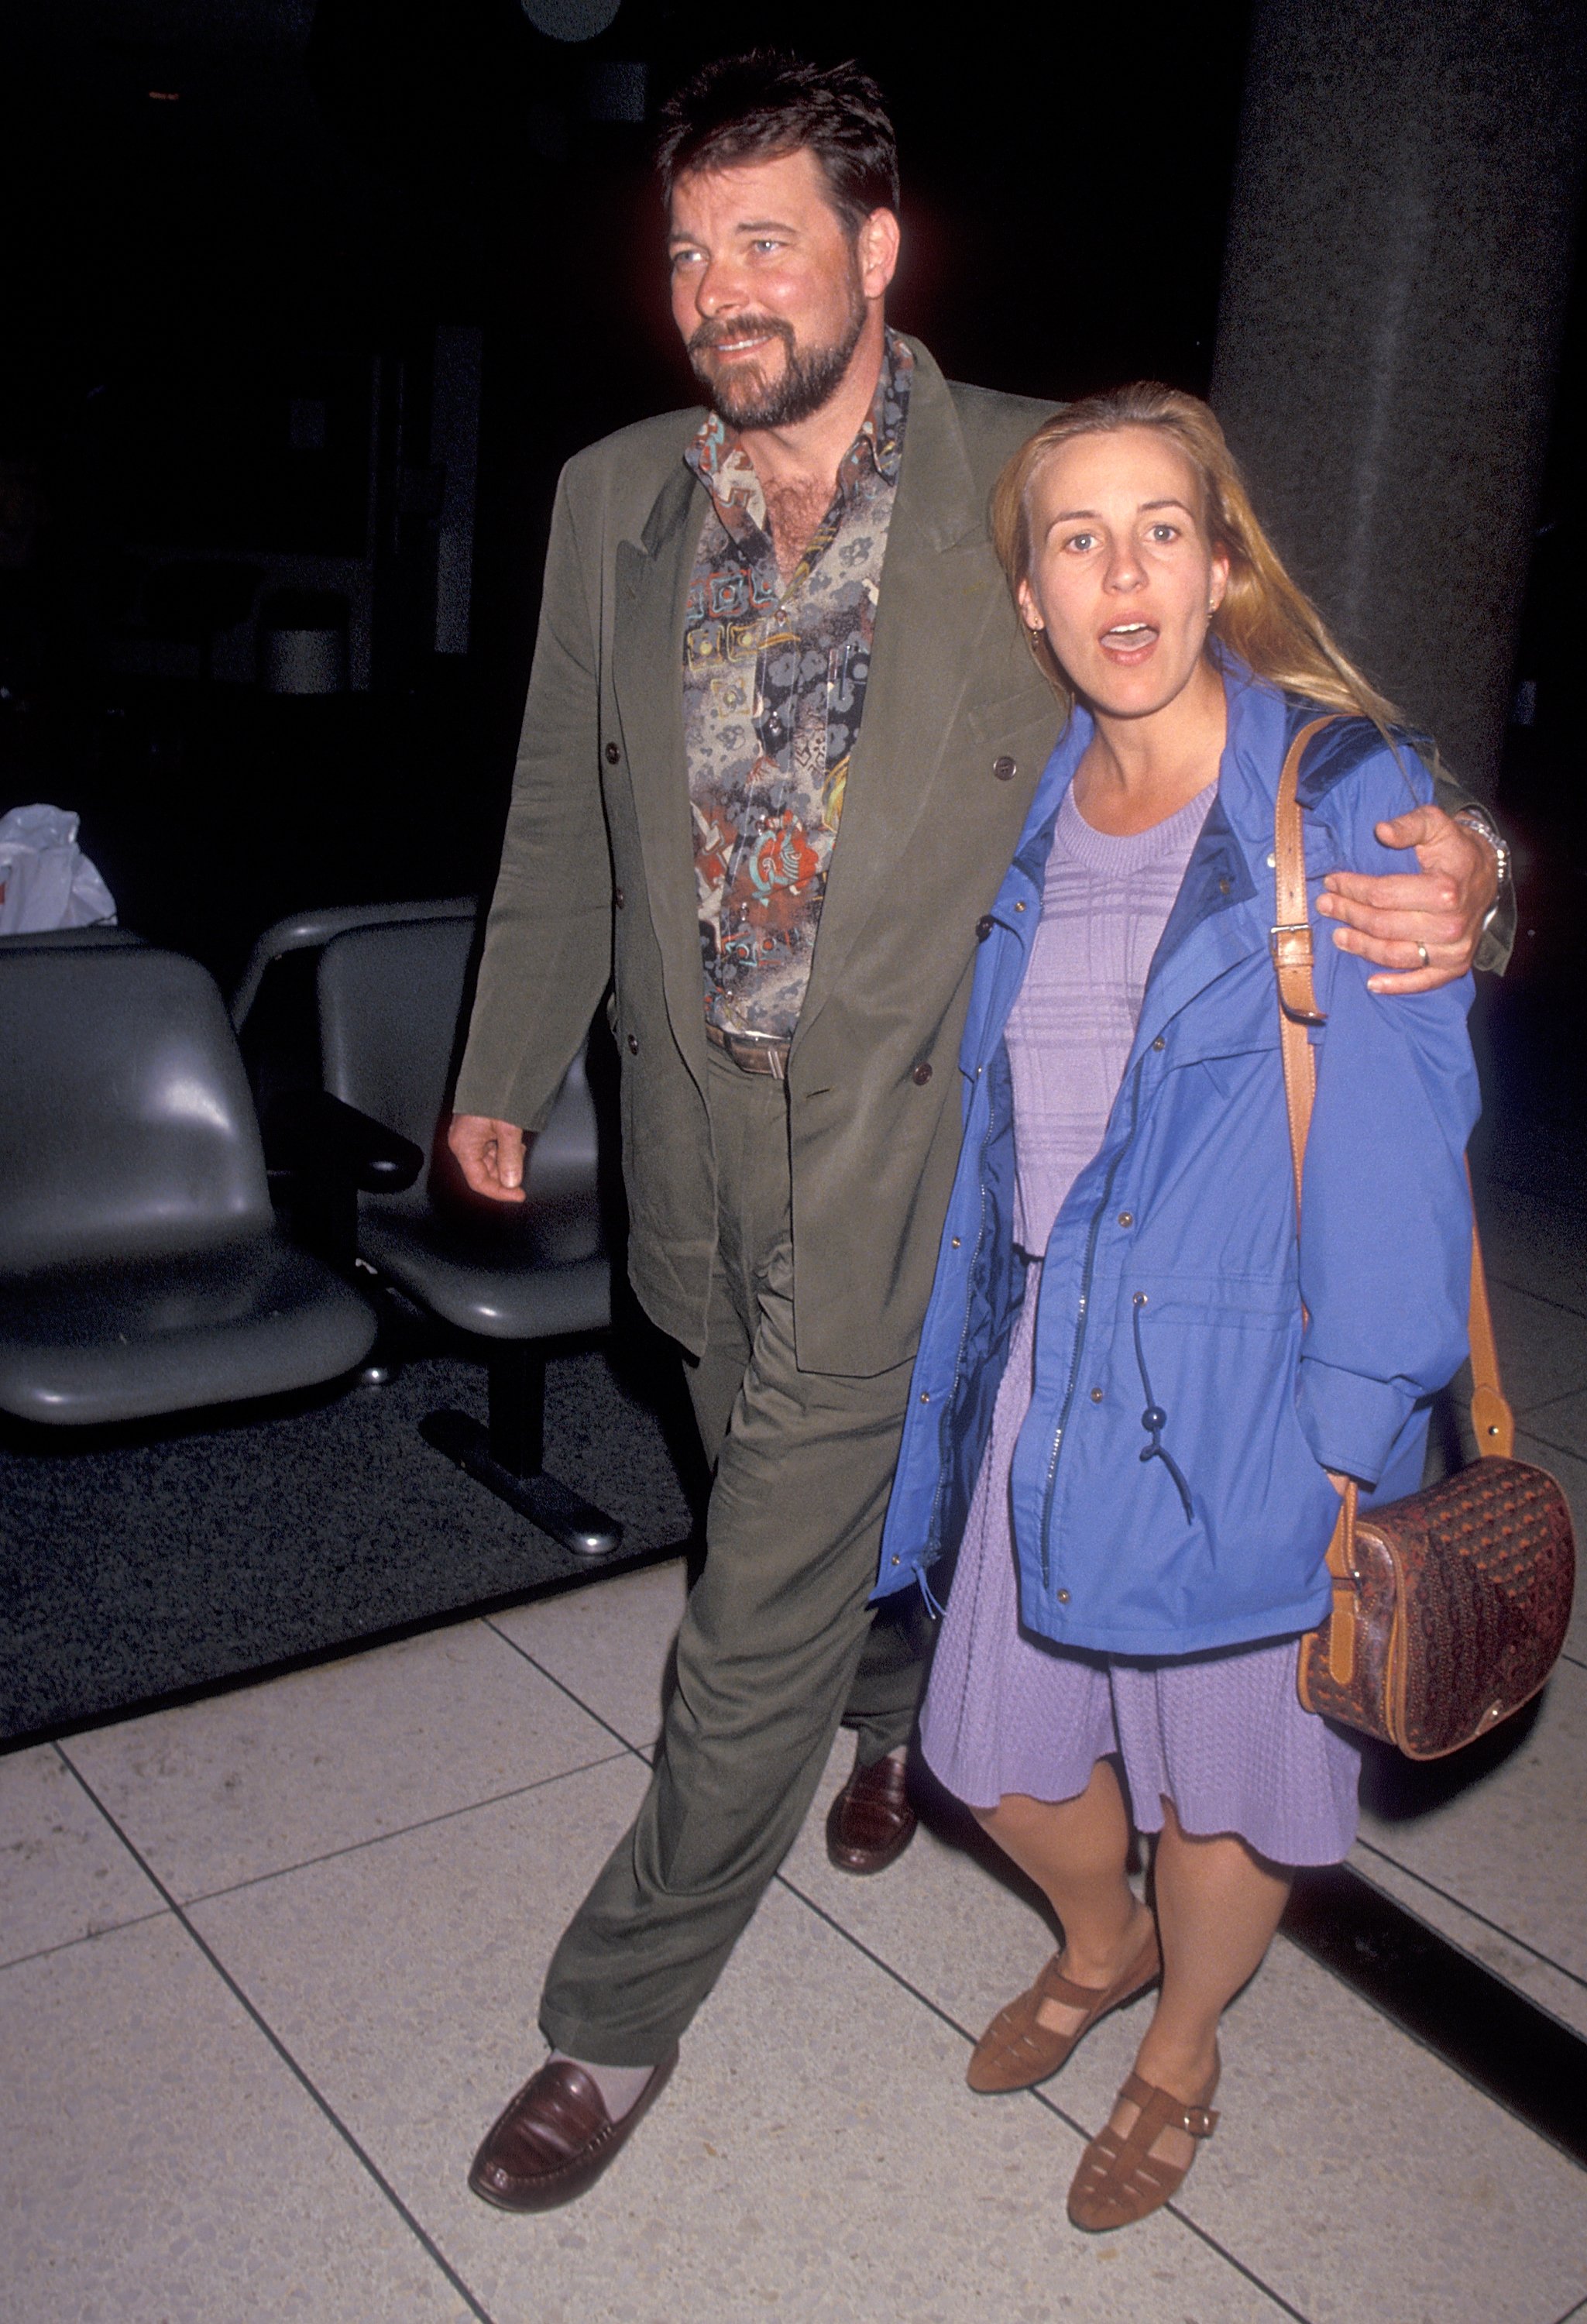
<path fill-rule="evenodd" d="M 1322 1025 L 1313 990 L 1306 855 L 1297 781 L 1301 727 L 1285 758 L 1273 816 L 1278 1025 L 1294 1162 L 1297 1220 L 1317 1067 L 1306 1039 Z M 1345 1487 L 1329 1541 L 1334 1606 L 1301 1638 L 1308 1710 L 1394 1743 L 1410 1759 L 1443 1759 L 1547 1683 L 1571 1622 L 1571 1511 L 1547 1469 L 1513 1459 L 1515 1420 L 1499 1387 L 1487 1278 L 1471 1229 L 1471 1425 L 1480 1457 L 1441 1485 L 1357 1511 Z"/>

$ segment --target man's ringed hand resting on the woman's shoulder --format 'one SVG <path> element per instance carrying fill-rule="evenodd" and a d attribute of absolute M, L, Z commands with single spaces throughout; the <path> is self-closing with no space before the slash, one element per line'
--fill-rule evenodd
<path fill-rule="evenodd" d="M 1317 911 L 1338 920 L 1341 953 L 1376 960 L 1373 992 L 1434 992 L 1464 976 L 1499 895 L 1494 851 L 1441 806 L 1413 806 L 1378 825 L 1385 848 L 1415 848 L 1420 871 L 1329 871 Z"/>

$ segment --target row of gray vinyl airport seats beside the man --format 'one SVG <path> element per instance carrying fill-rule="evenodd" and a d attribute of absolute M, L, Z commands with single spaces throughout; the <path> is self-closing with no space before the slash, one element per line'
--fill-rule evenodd
<path fill-rule="evenodd" d="M 611 1320 L 583 1057 L 525 1204 L 469 1197 L 441 1136 L 474 920 L 472 897 L 300 913 L 230 1011 L 125 930 L 0 939 L 0 1411 L 74 1429 L 381 1380 L 395 1287 L 486 1364 L 488 1425 L 430 1413 L 428 1441 L 569 1550 L 620 1545 L 544 1471 L 546 1353 Z M 260 1122 L 239 1034 L 304 953 L 318 1074 Z"/>

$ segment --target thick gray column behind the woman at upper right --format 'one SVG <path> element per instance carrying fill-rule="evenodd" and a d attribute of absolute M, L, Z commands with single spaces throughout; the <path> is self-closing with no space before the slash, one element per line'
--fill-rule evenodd
<path fill-rule="evenodd" d="M 1582 172 L 1573 0 L 1257 0 L 1213 404 L 1341 644 L 1492 790 Z"/>

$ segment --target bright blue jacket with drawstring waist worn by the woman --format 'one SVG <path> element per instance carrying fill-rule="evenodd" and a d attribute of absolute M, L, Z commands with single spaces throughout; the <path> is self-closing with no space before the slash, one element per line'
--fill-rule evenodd
<path fill-rule="evenodd" d="M 1338 1511 L 1327 1471 L 1371 1487 L 1364 1506 L 1413 1492 L 1427 1399 L 1466 1355 L 1471 978 L 1378 997 L 1366 962 L 1315 913 L 1327 871 L 1403 869 L 1373 825 L 1429 799 L 1431 781 L 1364 718 L 1320 734 L 1301 769 L 1327 1023 L 1313 1032 L 1297 1267 L 1269 953 L 1273 799 L 1317 706 L 1229 655 L 1225 693 L 1218 797 L 1152 957 L 1106 1136 L 1032 1269 L 1034 1380 L 1011 1480 L 1020 1618 L 1111 1655 L 1187 1655 L 1320 1622 Z M 957 1548 L 1025 1294 L 1004 1025 L 1090 734 L 1076 709 L 976 962 L 964 1146 L 876 1597 L 925 1585 Z"/>

